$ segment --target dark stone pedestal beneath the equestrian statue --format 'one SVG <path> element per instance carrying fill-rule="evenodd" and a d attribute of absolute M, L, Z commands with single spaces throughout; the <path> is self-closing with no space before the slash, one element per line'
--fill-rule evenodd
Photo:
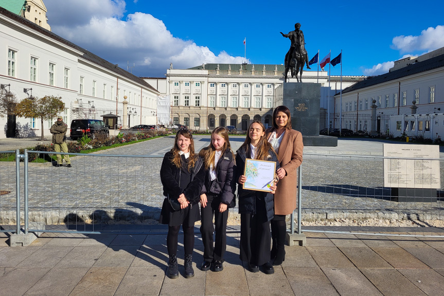
<path fill-rule="evenodd" d="M 292 127 L 302 133 L 304 146 L 338 146 L 337 137 L 319 136 L 321 83 L 283 83 L 275 90 L 273 103 L 288 107 Z"/>

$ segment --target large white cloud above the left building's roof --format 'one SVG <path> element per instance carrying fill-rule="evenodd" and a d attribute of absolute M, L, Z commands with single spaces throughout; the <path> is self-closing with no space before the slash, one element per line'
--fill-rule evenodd
<path fill-rule="evenodd" d="M 132 72 L 136 75 L 163 76 L 170 62 L 174 68 L 188 68 L 202 63 L 241 63 L 243 60 L 225 51 L 215 54 L 206 46 L 174 37 L 163 21 L 151 14 L 135 12 L 121 20 L 125 12 L 122 0 L 79 1 L 82 5 L 73 5 L 66 13 L 60 10 L 63 6 L 60 3 L 66 1 L 45 1 L 52 31 L 112 63 L 134 62 Z M 100 13 L 96 11 L 99 4 L 105 8 Z M 81 20 L 68 17 L 78 13 L 83 14 Z M 57 19 L 52 14 L 61 15 Z"/>

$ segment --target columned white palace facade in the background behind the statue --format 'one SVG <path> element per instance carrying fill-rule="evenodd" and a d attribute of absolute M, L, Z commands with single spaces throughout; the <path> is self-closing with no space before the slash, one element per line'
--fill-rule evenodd
<path fill-rule="evenodd" d="M 271 126 L 274 90 L 283 83 L 283 65 L 203 64 L 189 69 L 167 69 L 166 79 L 144 78 L 158 85 L 161 95 L 169 96 L 171 124 L 195 130 L 234 126 L 246 130 L 254 119 Z M 364 79 L 343 77 L 343 89 Z M 340 77 L 326 72 L 304 71 L 303 82 L 321 83 L 321 108 L 333 108 Z M 296 82 L 291 78 L 290 82 Z M 321 110 L 320 110 L 321 111 Z"/>

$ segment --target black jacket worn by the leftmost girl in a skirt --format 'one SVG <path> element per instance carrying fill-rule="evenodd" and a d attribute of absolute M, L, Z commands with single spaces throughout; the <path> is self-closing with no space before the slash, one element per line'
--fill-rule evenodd
<path fill-rule="evenodd" d="M 161 181 L 164 186 L 164 196 L 178 199 L 183 193 L 191 204 L 197 204 L 200 201 L 200 193 L 205 179 L 205 168 L 202 158 L 194 164 L 191 171 L 191 182 L 182 190 L 179 186 L 181 180 L 181 169 L 177 168 L 171 162 L 172 153 L 167 152 L 164 156 L 161 167 Z"/>

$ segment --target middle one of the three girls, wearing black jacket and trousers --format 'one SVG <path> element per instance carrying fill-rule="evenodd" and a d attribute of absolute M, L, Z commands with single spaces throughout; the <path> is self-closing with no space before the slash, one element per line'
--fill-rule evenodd
<path fill-rule="evenodd" d="M 223 270 L 226 250 L 226 224 L 228 205 L 234 198 L 236 180 L 234 178 L 234 154 L 223 127 L 214 129 L 211 142 L 199 155 L 204 160 L 205 183 L 201 194 L 201 234 L 204 244 L 202 270 L 212 268 Z M 213 241 L 213 217 L 216 225 L 216 243 Z"/>

